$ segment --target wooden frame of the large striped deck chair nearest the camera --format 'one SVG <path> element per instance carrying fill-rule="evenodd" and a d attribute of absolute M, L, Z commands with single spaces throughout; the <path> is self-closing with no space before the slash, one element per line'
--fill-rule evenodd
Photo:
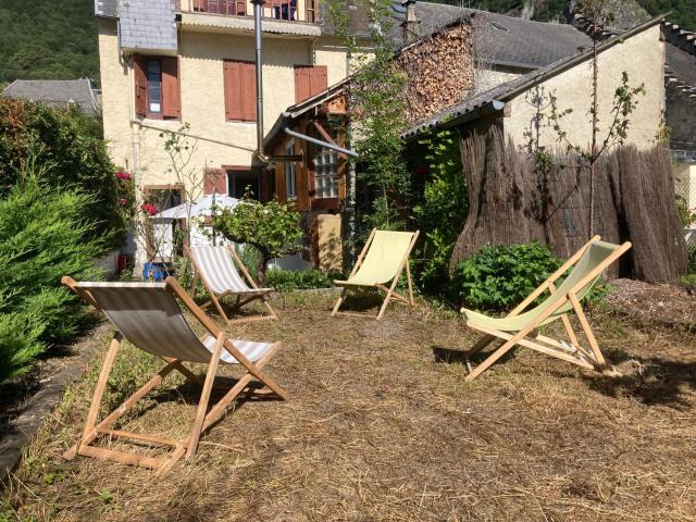
<path fill-rule="evenodd" d="M 89 291 L 79 288 L 77 283 L 69 276 L 62 278 L 62 283 L 71 290 L 85 299 L 88 303 L 92 304 L 97 310 L 100 310 L 99 304 L 92 298 Z M 165 279 L 166 289 L 171 291 L 175 297 L 190 310 L 194 316 L 203 325 L 203 327 L 215 338 L 215 345 L 211 353 L 210 363 L 208 364 L 208 371 L 204 380 L 201 380 L 198 375 L 186 368 L 182 360 L 172 358 L 162 358 L 166 364 L 157 374 L 154 374 L 147 383 L 145 383 L 137 391 L 132 394 L 127 399 L 121 403 L 111 413 L 104 417 L 98 422 L 99 407 L 103 397 L 109 375 L 113 368 L 116 355 L 121 347 L 123 339 L 122 334 L 116 331 L 113 339 L 109 345 L 104 363 L 99 373 L 97 386 L 91 397 L 90 407 L 87 413 L 87 419 L 83 428 L 79 440 L 67 449 L 63 457 L 66 460 L 72 460 L 76 456 L 95 457 L 100 460 L 115 461 L 124 464 L 138 465 L 142 468 L 150 468 L 157 470 L 157 474 L 161 475 L 170 471 L 176 462 L 186 456 L 186 459 L 191 459 L 198 449 L 198 443 L 200 436 L 206 430 L 208 430 L 213 423 L 222 418 L 229 403 L 237 398 L 243 391 L 250 388 L 252 380 L 257 380 L 265 385 L 270 391 L 266 394 L 273 394 L 283 400 L 287 400 L 288 394 L 273 381 L 264 371 L 263 368 L 281 349 L 282 343 L 275 343 L 271 349 L 257 362 L 251 362 L 247 359 L 238 348 L 234 346 L 232 339 L 227 338 L 226 334 L 222 332 L 217 325 L 198 307 L 192 299 L 186 294 L 184 288 L 173 277 Z M 214 386 L 214 380 L 217 372 L 217 365 L 220 363 L 220 356 L 223 350 L 229 352 L 240 365 L 243 365 L 247 373 L 241 376 L 237 383 L 231 388 L 225 388 L 227 391 L 225 395 L 208 411 L 210 403 L 210 396 Z M 164 437 L 152 436 L 139 433 L 129 433 L 121 430 L 113 430 L 114 423 L 123 417 L 128 410 L 130 410 L 140 399 L 149 394 L 154 387 L 162 384 L 164 378 L 177 371 L 183 374 L 188 381 L 202 385 L 200 401 L 196 411 L 196 418 L 191 430 L 186 438 L 183 440 L 173 440 Z M 102 448 L 94 446 L 92 444 L 100 437 L 108 436 L 112 438 L 125 438 L 136 443 L 144 443 L 153 446 L 164 446 L 171 448 L 171 455 L 169 457 L 147 457 L 139 456 L 126 451 L 116 451 L 113 449 Z"/>

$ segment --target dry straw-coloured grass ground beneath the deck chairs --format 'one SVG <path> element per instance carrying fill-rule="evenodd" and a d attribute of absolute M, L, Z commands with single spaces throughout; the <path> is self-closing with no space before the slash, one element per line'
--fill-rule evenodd
<path fill-rule="evenodd" d="M 465 384 L 458 355 L 474 336 L 453 316 L 394 306 L 382 322 L 331 318 L 322 296 L 275 304 L 279 321 L 235 334 L 285 343 L 269 373 L 290 401 L 240 402 L 161 478 L 64 462 L 95 364 L 29 446 L 0 520 L 696 519 L 693 334 L 594 311 L 623 377 L 519 350 Z M 108 402 L 151 368 L 124 350 Z M 196 390 L 166 383 L 126 428 L 185 433 Z"/>

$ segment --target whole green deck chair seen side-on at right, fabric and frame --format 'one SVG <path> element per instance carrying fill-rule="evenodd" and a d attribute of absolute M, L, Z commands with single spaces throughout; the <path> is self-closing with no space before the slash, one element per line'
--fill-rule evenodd
<path fill-rule="evenodd" d="M 461 312 L 467 319 L 467 326 L 485 334 L 464 353 L 469 369 L 469 375 L 467 375 L 465 381 L 476 378 L 515 345 L 531 348 L 583 368 L 597 370 L 605 375 L 618 375 L 618 372 L 607 364 L 583 312 L 581 301 L 592 290 L 607 266 L 630 248 L 630 243 L 613 245 L 601 241 L 599 236 L 593 237 L 505 318 L 489 318 L 462 308 Z M 555 286 L 556 279 L 571 268 L 572 271 L 568 277 L 557 288 Z M 524 310 L 546 290 L 549 290 L 550 296 L 540 304 L 525 312 Z M 577 336 L 569 319 L 570 313 L 575 313 L 577 316 L 589 344 L 589 349 L 583 348 L 577 341 Z M 557 319 L 562 321 L 570 343 L 536 333 L 536 328 Z M 502 346 L 493 351 L 486 360 L 472 370 L 469 358 L 483 350 L 496 338 L 505 340 Z"/>

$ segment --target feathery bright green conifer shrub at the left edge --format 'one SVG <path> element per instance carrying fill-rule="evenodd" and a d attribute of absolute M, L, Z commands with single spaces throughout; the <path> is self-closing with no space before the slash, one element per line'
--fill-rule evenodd
<path fill-rule="evenodd" d="M 103 246 L 85 217 L 94 198 L 23 179 L 0 200 L 0 382 L 24 373 L 82 318 L 61 276 L 94 276 Z"/>

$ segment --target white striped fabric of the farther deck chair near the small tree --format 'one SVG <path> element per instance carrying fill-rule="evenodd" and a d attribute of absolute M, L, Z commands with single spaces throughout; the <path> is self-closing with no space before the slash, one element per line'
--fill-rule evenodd
<path fill-rule="evenodd" d="M 190 253 L 210 290 L 215 294 L 266 294 L 273 290 L 250 288 L 225 247 L 190 247 Z"/>

